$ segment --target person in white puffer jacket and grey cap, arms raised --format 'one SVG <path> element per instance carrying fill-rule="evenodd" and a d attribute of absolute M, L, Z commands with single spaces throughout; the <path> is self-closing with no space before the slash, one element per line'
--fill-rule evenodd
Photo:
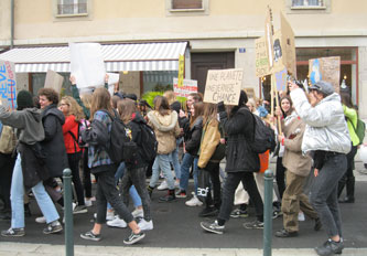
<path fill-rule="evenodd" d="M 317 255 L 341 254 L 344 248 L 337 185 L 347 168 L 350 139 L 341 97 L 332 84 L 320 81 L 309 87 L 309 99 L 295 83 L 289 86 L 295 111 L 306 124 L 303 153 L 312 152 L 314 183 L 310 202 L 317 212 L 328 239 L 315 247 Z"/>

